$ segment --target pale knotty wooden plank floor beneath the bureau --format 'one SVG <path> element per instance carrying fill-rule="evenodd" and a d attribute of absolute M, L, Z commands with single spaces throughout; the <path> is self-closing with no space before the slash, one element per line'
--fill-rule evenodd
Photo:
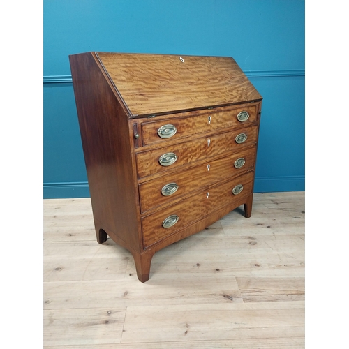
<path fill-rule="evenodd" d="M 304 348 L 304 192 L 257 193 L 158 251 L 96 242 L 89 199 L 44 200 L 44 348 Z"/>

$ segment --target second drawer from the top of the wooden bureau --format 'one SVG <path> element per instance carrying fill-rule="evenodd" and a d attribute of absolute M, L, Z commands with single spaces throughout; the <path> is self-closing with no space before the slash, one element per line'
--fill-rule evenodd
<path fill-rule="evenodd" d="M 242 135 L 246 136 L 246 140 L 240 139 Z M 258 126 L 249 126 L 168 147 L 142 151 L 136 154 L 138 178 L 165 172 L 205 158 L 240 151 L 248 145 L 255 144 L 257 136 Z M 239 143 L 240 141 L 243 142 Z"/>

